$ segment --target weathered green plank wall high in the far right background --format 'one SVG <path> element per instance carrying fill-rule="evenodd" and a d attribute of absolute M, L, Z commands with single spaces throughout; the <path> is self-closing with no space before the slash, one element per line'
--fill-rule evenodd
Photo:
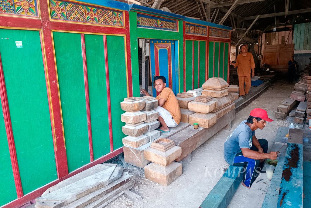
<path fill-rule="evenodd" d="M 311 22 L 294 25 L 295 51 L 311 50 Z"/>

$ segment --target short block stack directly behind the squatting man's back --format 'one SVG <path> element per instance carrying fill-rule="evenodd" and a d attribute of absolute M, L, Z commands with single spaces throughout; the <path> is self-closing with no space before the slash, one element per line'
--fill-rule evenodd
<path fill-rule="evenodd" d="M 181 113 L 180 121 L 184 123 L 188 123 L 189 116 L 194 113 L 193 111 L 190 111 L 188 109 L 188 103 L 193 101 L 195 97 L 193 96 L 193 93 L 188 93 L 188 92 L 178 93 L 176 97 L 177 97 L 179 107 L 180 107 L 180 113 Z"/>

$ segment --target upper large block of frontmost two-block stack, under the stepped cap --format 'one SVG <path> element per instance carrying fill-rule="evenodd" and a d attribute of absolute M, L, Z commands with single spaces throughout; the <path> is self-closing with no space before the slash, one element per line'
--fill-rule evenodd
<path fill-rule="evenodd" d="M 181 155 L 181 147 L 174 146 L 165 152 L 154 148 L 147 148 L 144 150 L 144 157 L 146 160 L 151 162 L 155 162 L 157 164 L 168 166 L 171 162 L 173 162 L 176 158 Z"/>

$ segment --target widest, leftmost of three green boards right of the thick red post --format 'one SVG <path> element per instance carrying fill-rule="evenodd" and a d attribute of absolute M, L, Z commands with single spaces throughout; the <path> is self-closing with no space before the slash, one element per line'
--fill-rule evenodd
<path fill-rule="evenodd" d="M 53 32 L 53 39 L 68 170 L 72 172 L 90 162 L 81 35 Z"/>

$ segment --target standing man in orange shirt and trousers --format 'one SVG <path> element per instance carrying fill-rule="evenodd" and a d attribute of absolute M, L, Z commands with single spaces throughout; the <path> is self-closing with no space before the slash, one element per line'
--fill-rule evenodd
<path fill-rule="evenodd" d="M 255 76 L 255 62 L 253 55 L 247 52 L 246 45 L 242 45 L 240 47 L 240 51 L 241 53 L 236 58 L 236 63 L 234 64 L 230 60 L 230 64 L 233 65 L 235 68 L 238 67 L 240 96 L 245 98 L 248 94 L 249 89 L 251 88 L 251 69 L 252 77 Z"/>

